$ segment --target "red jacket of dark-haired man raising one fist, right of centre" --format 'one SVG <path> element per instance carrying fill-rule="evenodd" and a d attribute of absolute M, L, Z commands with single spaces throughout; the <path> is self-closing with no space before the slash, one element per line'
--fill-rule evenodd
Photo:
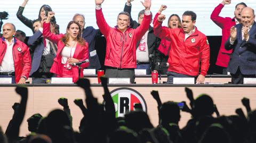
<path fill-rule="evenodd" d="M 206 75 L 209 69 L 210 47 L 206 36 L 195 28 L 195 32 L 185 41 L 182 28 L 164 28 L 162 22 L 154 22 L 154 33 L 161 39 L 171 40 L 168 71 L 186 75 L 198 75 L 200 62 L 201 74 Z"/>

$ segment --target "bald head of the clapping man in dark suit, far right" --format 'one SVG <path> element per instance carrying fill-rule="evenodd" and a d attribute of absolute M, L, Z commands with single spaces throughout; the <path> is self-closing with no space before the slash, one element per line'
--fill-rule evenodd
<path fill-rule="evenodd" d="M 250 27 L 254 20 L 255 20 L 255 14 L 254 10 L 251 7 L 245 7 L 242 11 L 242 24 L 244 27 Z"/>

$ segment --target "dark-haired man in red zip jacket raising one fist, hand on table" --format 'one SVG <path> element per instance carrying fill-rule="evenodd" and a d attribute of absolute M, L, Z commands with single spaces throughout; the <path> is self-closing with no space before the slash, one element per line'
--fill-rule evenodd
<path fill-rule="evenodd" d="M 182 15 L 182 28 L 162 27 L 164 14 L 159 14 L 154 21 L 154 33 L 161 39 L 172 41 L 166 74 L 167 83 L 173 83 L 174 77 L 196 77 L 202 83 L 209 69 L 210 47 L 207 37 L 195 27 L 196 13 L 186 11 Z M 201 63 L 201 64 L 200 64 Z"/>

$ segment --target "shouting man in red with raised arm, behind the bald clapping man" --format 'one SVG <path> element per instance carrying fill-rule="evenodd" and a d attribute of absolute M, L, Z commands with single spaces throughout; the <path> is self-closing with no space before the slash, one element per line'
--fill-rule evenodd
<path fill-rule="evenodd" d="M 233 50 L 227 51 L 225 49 L 225 42 L 227 41 L 229 35 L 230 35 L 230 28 L 235 26 L 236 24 L 241 23 L 241 13 L 244 7 L 247 7 L 245 3 L 238 3 L 236 5 L 235 11 L 234 11 L 234 18 L 223 18 L 219 16 L 221 10 L 226 4 L 230 4 L 231 0 L 223 0 L 215 9 L 213 10 L 211 14 L 211 20 L 217 24 L 222 29 L 222 38 L 221 38 L 221 45 L 220 45 L 220 51 L 218 54 L 216 65 L 222 67 L 222 74 L 227 74 L 227 67 L 228 62 L 231 53 Z"/>

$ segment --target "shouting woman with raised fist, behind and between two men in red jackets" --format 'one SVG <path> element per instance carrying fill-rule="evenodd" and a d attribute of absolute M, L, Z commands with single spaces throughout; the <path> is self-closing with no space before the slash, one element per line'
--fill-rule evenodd
<path fill-rule="evenodd" d="M 156 13 L 154 21 L 157 19 L 158 15 L 162 13 L 167 8 L 166 5 L 161 5 L 160 10 Z M 172 14 L 168 19 L 168 28 L 181 28 L 181 20 L 179 15 Z M 161 39 L 161 43 L 159 44 L 158 51 L 156 53 L 156 63 L 167 63 L 169 58 L 169 52 L 171 49 L 171 41 L 166 39 Z M 162 74 L 166 74 L 168 67 L 162 68 Z M 159 67 L 155 66 L 155 71 L 158 71 Z"/>

